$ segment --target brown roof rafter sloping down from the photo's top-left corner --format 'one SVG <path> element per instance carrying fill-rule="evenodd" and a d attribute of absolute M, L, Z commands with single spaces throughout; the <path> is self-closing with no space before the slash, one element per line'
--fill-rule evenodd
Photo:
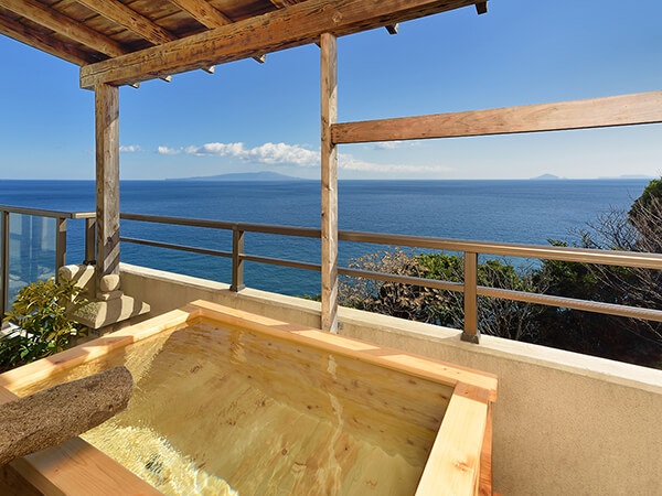
<path fill-rule="evenodd" d="M 0 7 L 111 57 L 129 53 L 115 40 L 35 0 L 0 0 Z"/>

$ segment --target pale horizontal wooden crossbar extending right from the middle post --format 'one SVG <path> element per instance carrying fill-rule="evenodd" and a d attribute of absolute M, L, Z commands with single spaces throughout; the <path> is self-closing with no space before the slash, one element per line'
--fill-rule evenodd
<path fill-rule="evenodd" d="M 562 131 L 662 122 L 662 91 L 557 104 L 344 122 L 332 126 L 334 143 Z"/>

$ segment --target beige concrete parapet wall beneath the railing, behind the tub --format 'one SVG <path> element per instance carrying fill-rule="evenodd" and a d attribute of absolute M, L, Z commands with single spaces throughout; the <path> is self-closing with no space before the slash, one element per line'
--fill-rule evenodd
<path fill-rule="evenodd" d="M 204 299 L 319 326 L 319 303 L 122 265 L 122 289 L 152 314 Z M 662 494 L 662 371 L 351 309 L 343 335 L 499 376 L 494 490 L 504 495 Z"/>

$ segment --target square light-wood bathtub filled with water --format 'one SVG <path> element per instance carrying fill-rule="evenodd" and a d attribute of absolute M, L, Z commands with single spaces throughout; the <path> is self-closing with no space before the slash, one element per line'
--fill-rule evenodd
<path fill-rule="evenodd" d="M 128 410 L 12 463 L 4 484 L 491 494 L 493 376 L 202 301 L 0 375 L 0 401 L 119 364 Z"/>

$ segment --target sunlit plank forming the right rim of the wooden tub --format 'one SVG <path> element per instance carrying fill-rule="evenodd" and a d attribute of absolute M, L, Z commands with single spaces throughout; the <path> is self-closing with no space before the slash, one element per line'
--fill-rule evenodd
<path fill-rule="evenodd" d="M 488 399 L 471 386 L 456 386 L 416 495 L 478 492 Z"/>

